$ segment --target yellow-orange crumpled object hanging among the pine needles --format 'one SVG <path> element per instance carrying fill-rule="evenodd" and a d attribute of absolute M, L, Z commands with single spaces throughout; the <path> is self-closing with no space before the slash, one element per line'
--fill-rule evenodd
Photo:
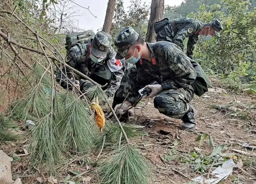
<path fill-rule="evenodd" d="M 105 115 L 102 108 L 99 105 L 99 100 L 97 97 L 95 102 L 92 102 L 91 104 L 91 110 L 94 110 L 95 122 L 99 127 L 100 132 L 102 132 L 102 129 L 105 126 Z"/>

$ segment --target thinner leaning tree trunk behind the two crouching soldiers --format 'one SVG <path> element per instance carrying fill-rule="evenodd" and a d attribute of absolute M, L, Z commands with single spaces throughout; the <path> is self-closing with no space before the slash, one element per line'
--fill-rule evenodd
<path fill-rule="evenodd" d="M 102 28 L 102 31 L 104 31 L 106 33 L 110 33 L 111 23 L 112 23 L 114 11 L 115 11 L 115 6 L 116 6 L 116 0 L 108 0 L 108 7 L 107 7 L 107 11 L 106 11 L 105 21 L 104 21 L 104 25 Z"/>

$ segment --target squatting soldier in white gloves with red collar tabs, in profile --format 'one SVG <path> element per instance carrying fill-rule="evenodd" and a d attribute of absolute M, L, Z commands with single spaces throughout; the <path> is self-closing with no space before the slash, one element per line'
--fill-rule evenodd
<path fill-rule="evenodd" d="M 180 118 L 183 128 L 193 129 L 196 126 L 195 109 L 189 102 L 194 93 L 201 96 L 211 86 L 201 66 L 176 44 L 144 42 L 132 27 L 119 33 L 115 45 L 118 47 L 117 59 L 125 58 L 135 64 L 128 68 L 115 93 L 113 108 L 116 113 L 124 116 L 139 96 L 138 90 L 146 86 L 152 89 L 147 97 L 155 97 L 154 106 L 160 113 Z M 148 85 L 153 81 L 158 84 Z"/>

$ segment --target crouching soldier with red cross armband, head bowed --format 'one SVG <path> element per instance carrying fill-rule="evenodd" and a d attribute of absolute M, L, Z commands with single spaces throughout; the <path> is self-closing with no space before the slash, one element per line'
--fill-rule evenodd
<path fill-rule="evenodd" d="M 66 57 L 67 64 L 72 68 L 89 76 L 98 84 L 105 85 L 108 83 L 103 88 L 108 97 L 114 95 L 124 75 L 122 62 L 115 59 L 116 52 L 111 47 L 111 42 L 112 37 L 100 31 L 96 33 L 91 43 L 78 43 L 73 46 Z M 68 77 L 71 78 L 72 71 L 68 68 L 66 68 L 66 71 Z M 62 69 L 62 72 L 65 74 L 65 68 Z M 56 80 L 63 88 L 67 88 L 66 78 L 61 75 L 60 71 L 57 71 Z M 80 84 L 82 92 L 94 86 L 89 80 L 84 79 L 80 79 L 77 83 Z M 73 87 L 69 84 L 68 88 Z"/>

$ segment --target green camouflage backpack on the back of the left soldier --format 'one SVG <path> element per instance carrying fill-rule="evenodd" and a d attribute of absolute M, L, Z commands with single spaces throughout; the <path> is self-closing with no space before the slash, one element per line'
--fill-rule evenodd
<path fill-rule="evenodd" d="M 80 33 L 72 33 L 66 36 L 66 50 L 68 51 L 78 43 L 88 43 L 93 37 L 95 33 L 92 30 L 80 32 Z"/>

